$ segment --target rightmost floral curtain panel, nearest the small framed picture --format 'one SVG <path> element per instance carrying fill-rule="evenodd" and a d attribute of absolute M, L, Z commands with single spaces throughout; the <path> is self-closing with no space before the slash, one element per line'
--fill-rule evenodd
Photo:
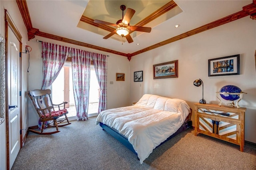
<path fill-rule="evenodd" d="M 98 113 L 100 113 L 101 111 L 107 109 L 107 56 L 98 53 L 92 53 L 91 57 L 100 86 L 98 107 Z"/>

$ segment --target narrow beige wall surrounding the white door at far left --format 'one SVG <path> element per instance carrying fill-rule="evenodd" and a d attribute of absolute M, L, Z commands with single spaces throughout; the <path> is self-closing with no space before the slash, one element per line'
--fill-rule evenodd
<path fill-rule="evenodd" d="M 14 0 L 1 0 L 0 1 L 0 34 L 5 37 L 5 22 L 4 22 L 4 9 L 8 10 L 12 20 L 14 21 L 18 31 L 22 35 L 22 50 L 25 51 L 25 45 L 27 45 L 28 37 L 26 27 L 23 23 L 22 16 L 18 9 L 17 3 Z M 27 113 L 27 95 L 28 90 L 28 54 L 22 55 L 22 125 L 23 129 L 27 129 L 28 113 Z M 6 123 L 6 122 L 5 122 Z M 6 169 L 6 127 L 5 123 L 0 125 L 0 170 Z M 26 133 L 26 131 L 23 131 Z M 23 137 L 25 135 L 23 133 Z M 5 147 L 2 147 L 5 146 Z"/>

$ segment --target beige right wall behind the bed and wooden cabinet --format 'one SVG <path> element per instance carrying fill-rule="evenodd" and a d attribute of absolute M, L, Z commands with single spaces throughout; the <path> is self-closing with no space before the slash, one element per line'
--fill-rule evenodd
<path fill-rule="evenodd" d="M 239 104 L 247 107 L 245 140 L 256 143 L 255 50 L 256 22 L 247 16 L 134 56 L 130 61 L 130 103 L 148 93 L 186 100 L 194 111 L 193 104 L 202 98 L 202 87 L 194 86 L 194 80 L 203 80 L 204 99 L 214 104 L 219 103 L 216 92 L 232 84 L 248 93 Z M 208 59 L 236 54 L 240 54 L 240 75 L 208 77 Z M 178 78 L 153 79 L 153 64 L 174 60 L 178 60 Z M 133 73 L 140 70 L 143 82 L 133 82 Z"/>

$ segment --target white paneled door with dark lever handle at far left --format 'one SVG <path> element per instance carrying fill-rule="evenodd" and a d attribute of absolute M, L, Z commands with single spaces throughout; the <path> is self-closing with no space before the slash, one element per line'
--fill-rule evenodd
<path fill-rule="evenodd" d="M 8 27 L 8 117 L 10 168 L 20 150 L 20 42 Z"/>

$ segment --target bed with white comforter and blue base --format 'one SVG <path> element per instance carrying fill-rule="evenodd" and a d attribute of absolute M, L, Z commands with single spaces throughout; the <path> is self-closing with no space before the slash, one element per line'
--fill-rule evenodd
<path fill-rule="evenodd" d="M 153 149 L 192 125 L 190 114 L 184 100 L 144 94 L 134 106 L 100 112 L 96 125 L 137 154 L 142 164 Z"/>

